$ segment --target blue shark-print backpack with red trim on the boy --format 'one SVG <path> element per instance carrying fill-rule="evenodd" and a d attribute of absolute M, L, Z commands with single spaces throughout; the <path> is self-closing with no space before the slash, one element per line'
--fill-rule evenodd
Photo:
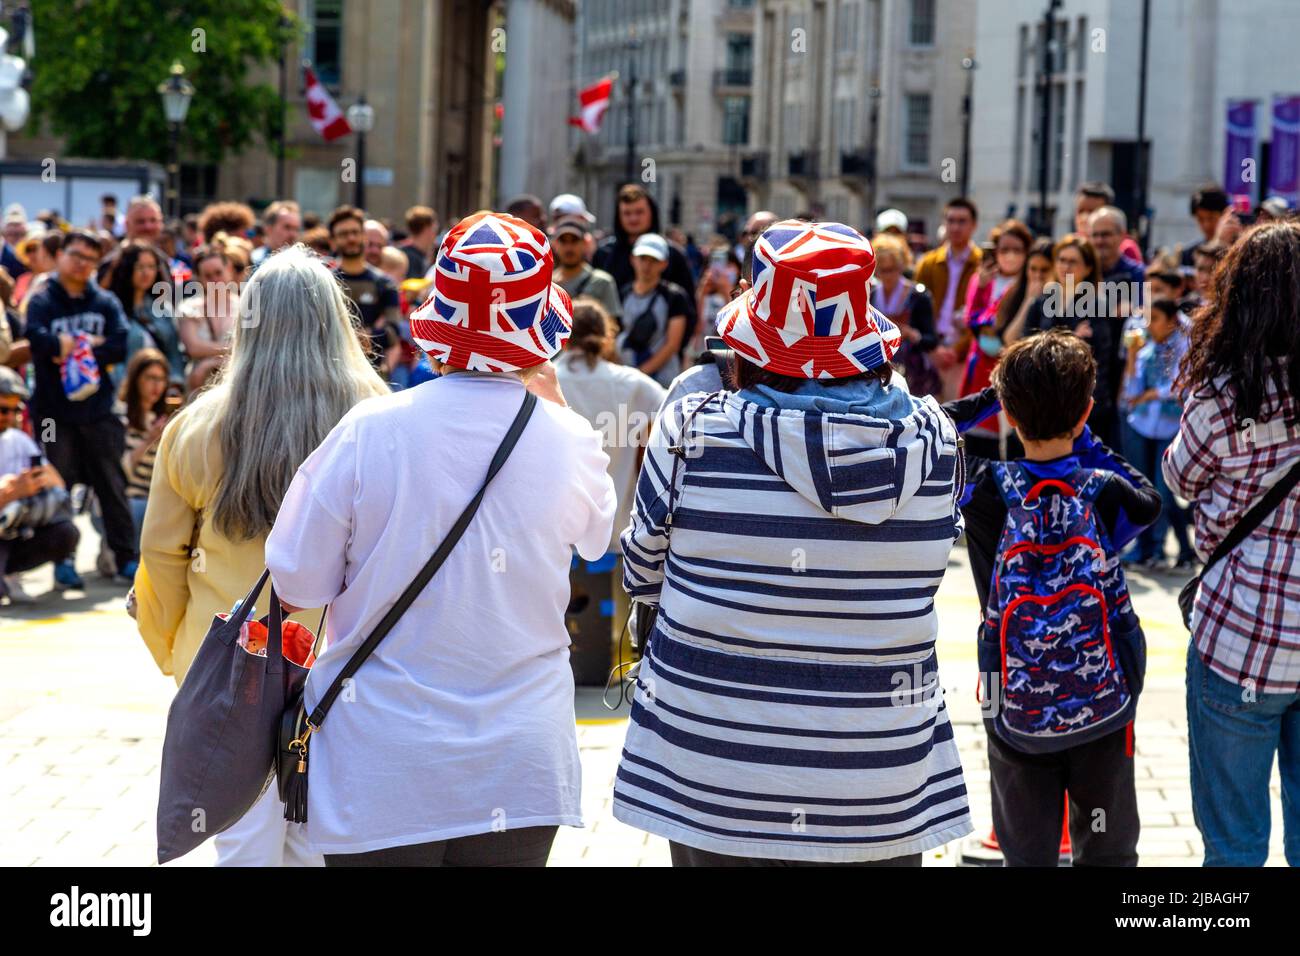
<path fill-rule="evenodd" d="M 979 643 L 985 717 L 1024 753 L 1131 734 L 1147 650 L 1096 514 L 1109 472 L 1036 480 L 1015 462 L 991 467 L 1006 525 Z"/>

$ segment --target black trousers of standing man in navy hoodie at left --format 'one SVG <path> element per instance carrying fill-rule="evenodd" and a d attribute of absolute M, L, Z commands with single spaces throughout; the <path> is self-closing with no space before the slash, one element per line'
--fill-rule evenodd
<path fill-rule="evenodd" d="M 104 537 L 117 559 L 117 570 L 139 558 L 135 546 L 135 522 L 126 503 L 126 475 L 122 451 L 126 429 L 114 416 L 72 424 L 53 423 L 53 441 L 44 442 L 46 458 L 58 470 L 64 483 L 90 485 L 99 498 L 104 515 Z"/>

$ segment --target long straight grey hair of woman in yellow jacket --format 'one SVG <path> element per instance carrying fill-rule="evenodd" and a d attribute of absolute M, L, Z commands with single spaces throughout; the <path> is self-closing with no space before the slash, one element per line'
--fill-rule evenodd
<path fill-rule="evenodd" d="M 263 260 L 240 299 L 208 395 L 224 462 L 212 520 L 230 540 L 266 533 L 298 466 L 354 405 L 389 394 L 338 280 L 307 246 Z"/>

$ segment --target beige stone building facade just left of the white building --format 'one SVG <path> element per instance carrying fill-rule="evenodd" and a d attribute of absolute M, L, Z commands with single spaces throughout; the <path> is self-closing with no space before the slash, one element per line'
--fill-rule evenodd
<path fill-rule="evenodd" d="M 933 237 L 961 187 L 974 4 L 764 0 L 745 185 L 755 208 Z"/>

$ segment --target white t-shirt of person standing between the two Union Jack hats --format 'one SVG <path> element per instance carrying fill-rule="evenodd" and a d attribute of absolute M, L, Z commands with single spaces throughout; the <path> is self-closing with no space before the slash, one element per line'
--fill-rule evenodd
<path fill-rule="evenodd" d="M 632 501 L 637 493 L 637 449 L 649 438 L 650 425 L 667 393 L 638 368 L 604 360 L 588 368 L 586 359 L 576 352 L 556 360 L 555 377 L 564 401 L 592 424 L 610 457 L 610 477 L 619 496 L 610 550 L 618 551 L 619 535 L 632 520 Z"/>

